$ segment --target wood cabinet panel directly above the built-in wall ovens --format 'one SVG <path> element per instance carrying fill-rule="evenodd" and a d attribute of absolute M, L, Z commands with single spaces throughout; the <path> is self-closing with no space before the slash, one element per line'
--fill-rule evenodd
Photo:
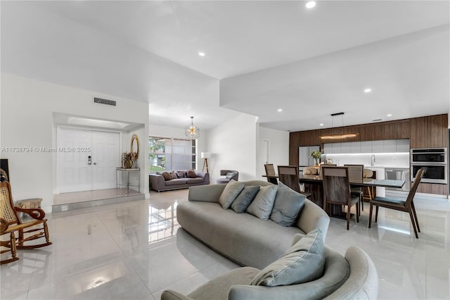
<path fill-rule="evenodd" d="M 413 118 L 411 125 L 411 148 L 446 147 L 449 143 L 448 116 L 429 115 L 428 117 Z"/>

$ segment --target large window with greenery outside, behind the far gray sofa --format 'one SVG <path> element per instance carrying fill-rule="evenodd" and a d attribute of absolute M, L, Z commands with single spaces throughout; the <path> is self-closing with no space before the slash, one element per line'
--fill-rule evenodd
<path fill-rule="evenodd" d="M 195 139 L 148 137 L 150 172 L 195 169 Z"/>

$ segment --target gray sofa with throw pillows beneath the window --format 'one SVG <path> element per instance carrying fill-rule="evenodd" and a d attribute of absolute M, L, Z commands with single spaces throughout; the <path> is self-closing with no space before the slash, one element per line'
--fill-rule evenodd
<path fill-rule="evenodd" d="M 162 174 L 148 174 L 150 189 L 161 192 L 169 191 L 171 189 L 187 189 L 188 187 L 193 187 L 195 185 L 210 184 L 209 173 L 191 170 L 191 173 L 194 172 L 195 175 L 191 175 L 191 177 L 188 177 L 188 175 L 186 175 L 188 173 L 188 170 L 179 170 L 174 172 L 177 174 L 177 176 L 174 177 L 172 175 L 172 177 L 169 177 L 168 180 L 166 180 Z M 172 174 L 174 172 L 172 172 Z"/>

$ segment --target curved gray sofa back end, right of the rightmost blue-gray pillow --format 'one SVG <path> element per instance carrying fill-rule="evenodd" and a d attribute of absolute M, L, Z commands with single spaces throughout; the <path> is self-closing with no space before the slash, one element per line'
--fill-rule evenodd
<path fill-rule="evenodd" d="M 304 206 L 300 213 L 297 227 L 303 230 L 304 233 L 319 228 L 323 233 L 323 239 L 325 239 L 328 225 L 330 225 L 330 217 L 327 213 L 314 202 L 304 199 Z"/>

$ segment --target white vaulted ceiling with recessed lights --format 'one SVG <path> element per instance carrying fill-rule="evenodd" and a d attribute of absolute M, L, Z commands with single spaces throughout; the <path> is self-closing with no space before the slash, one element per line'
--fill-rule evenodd
<path fill-rule="evenodd" d="M 241 111 L 307 130 L 340 111 L 345 125 L 449 113 L 449 1 L 304 4 L 1 1 L 1 68 L 148 101 L 160 125 L 195 115 L 208 128 Z"/>

